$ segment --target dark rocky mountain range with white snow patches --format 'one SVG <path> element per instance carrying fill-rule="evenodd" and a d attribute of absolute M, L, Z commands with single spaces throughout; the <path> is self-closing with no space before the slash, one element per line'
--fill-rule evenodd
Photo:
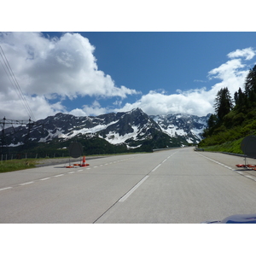
<path fill-rule="evenodd" d="M 48 143 L 53 139 L 69 140 L 73 137 L 99 137 L 113 145 L 124 144 L 127 148 L 139 148 L 150 142 L 155 148 L 182 147 L 199 143 L 201 133 L 207 127 L 207 119 L 188 114 L 148 116 L 136 108 L 123 113 L 106 113 L 99 116 L 76 117 L 57 113 L 40 119 L 31 125 L 20 125 L 15 130 L 0 131 L 2 142 L 9 147 L 26 143 Z"/>

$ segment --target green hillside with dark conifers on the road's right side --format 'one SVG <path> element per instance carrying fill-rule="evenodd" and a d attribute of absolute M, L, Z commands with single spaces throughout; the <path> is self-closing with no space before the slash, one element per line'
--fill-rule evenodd
<path fill-rule="evenodd" d="M 241 141 L 249 135 L 256 135 L 256 65 L 245 79 L 243 90 L 232 98 L 228 88 L 218 91 L 215 99 L 215 113 L 208 121 L 200 148 L 243 154 Z"/>

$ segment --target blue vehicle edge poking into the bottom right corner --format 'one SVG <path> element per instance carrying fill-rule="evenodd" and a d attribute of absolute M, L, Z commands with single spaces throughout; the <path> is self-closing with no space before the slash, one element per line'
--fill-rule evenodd
<path fill-rule="evenodd" d="M 223 220 L 206 221 L 203 224 L 256 224 L 255 214 L 236 214 L 231 215 Z"/>

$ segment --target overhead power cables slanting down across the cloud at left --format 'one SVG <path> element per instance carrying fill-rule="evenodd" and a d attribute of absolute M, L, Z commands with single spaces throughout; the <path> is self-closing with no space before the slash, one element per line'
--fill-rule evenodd
<path fill-rule="evenodd" d="M 1 64 L 3 66 L 5 73 L 7 74 L 10 83 L 14 86 L 16 93 L 18 94 L 18 96 L 20 96 L 21 102 L 23 103 L 24 107 L 26 108 L 26 112 L 28 113 L 28 116 L 31 117 L 32 119 L 35 119 L 31 108 L 29 107 L 28 103 L 26 102 L 26 98 L 20 89 L 20 84 L 18 83 L 17 79 L 15 78 L 15 74 L 13 73 L 12 68 L 9 66 L 9 61 L 6 58 L 1 45 L 0 45 L 0 49 L 1 49 L 0 55 L 3 59 L 3 62 L 1 61 Z"/>

